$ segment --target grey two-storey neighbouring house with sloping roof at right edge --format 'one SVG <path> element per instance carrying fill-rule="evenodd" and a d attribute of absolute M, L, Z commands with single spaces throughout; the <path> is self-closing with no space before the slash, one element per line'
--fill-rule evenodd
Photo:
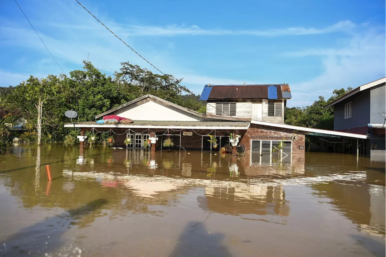
<path fill-rule="evenodd" d="M 359 153 L 386 157 L 386 77 L 355 88 L 328 107 L 334 107 L 334 130 L 368 135 L 359 141 Z M 354 153 L 355 143 L 346 140 L 346 152 Z"/>

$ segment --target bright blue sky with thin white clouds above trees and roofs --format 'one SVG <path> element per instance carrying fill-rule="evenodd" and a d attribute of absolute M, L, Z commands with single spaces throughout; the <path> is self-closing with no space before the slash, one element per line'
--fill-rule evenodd
<path fill-rule="evenodd" d="M 129 61 L 152 69 L 74 0 L 18 0 L 68 73 L 82 60 L 107 74 Z M 289 83 L 289 107 L 386 76 L 386 1 L 81 0 L 164 73 L 205 84 Z M 0 8 L 0 86 L 58 65 L 13 0 Z"/>

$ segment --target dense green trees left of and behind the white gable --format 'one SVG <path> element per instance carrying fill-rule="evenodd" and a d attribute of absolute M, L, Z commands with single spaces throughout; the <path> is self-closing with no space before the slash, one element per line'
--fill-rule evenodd
<path fill-rule="evenodd" d="M 20 135 L 23 141 L 38 141 L 39 130 L 42 142 L 63 141 L 66 135 L 78 134 L 63 127 L 63 123 L 70 122 L 64 116 L 66 110 L 78 113 L 73 121 L 90 121 L 99 113 L 146 94 L 205 113 L 205 103 L 199 102 L 197 96 L 181 95 L 189 92 L 178 85 L 182 79 L 155 74 L 129 62 L 121 63 L 122 68 L 113 77 L 89 61 L 83 64 L 83 70 L 71 71 L 69 76 L 30 76 L 18 86 L 0 88 L 0 131 L 2 127 L 9 130 L 11 123 L 25 118 L 26 131 Z M 2 137 L 4 142 L 11 137 L 8 132 L 6 135 L 6 139 Z"/>

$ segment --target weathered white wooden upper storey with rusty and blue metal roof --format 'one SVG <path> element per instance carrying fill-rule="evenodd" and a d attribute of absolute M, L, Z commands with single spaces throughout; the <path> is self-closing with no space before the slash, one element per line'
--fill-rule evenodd
<path fill-rule="evenodd" d="M 288 84 L 205 85 L 200 99 L 207 101 L 207 114 L 284 123 L 291 90 Z"/>

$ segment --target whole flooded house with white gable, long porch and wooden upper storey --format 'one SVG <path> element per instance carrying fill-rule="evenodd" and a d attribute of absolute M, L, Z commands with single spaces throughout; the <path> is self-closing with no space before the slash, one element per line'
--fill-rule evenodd
<path fill-rule="evenodd" d="M 144 149 L 144 141 L 152 139 L 151 148 L 163 149 L 165 139 L 174 146 L 167 149 L 219 151 L 232 145 L 232 154 L 253 154 L 253 162 L 275 160 L 291 162 L 292 156 L 302 158 L 305 135 L 333 135 L 364 139 L 366 135 L 304 128 L 284 124 L 284 106 L 291 99 L 288 84 L 269 85 L 206 85 L 201 100 L 207 102 L 207 112 L 198 113 L 154 95 L 144 95 L 100 113 L 95 118 L 117 115 L 130 118 L 132 123 L 95 121 L 66 123 L 65 127 L 84 133 L 109 132 L 115 146 Z M 125 145 L 125 139 L 130 143 Z M 211 140 L 212 139 L 212 140 Z M 213 140 L 215 139 L 215 140 Z"/>

